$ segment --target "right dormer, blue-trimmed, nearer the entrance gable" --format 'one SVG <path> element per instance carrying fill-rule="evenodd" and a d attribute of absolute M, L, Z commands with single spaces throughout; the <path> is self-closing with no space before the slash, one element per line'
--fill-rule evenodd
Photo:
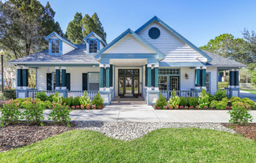
<path fill-rule="evenodd" d="M 86 54 L 93 55 L 98 53 L 107 44 L 104 40 L 93 31 L 90 32 L 83 40 L 86 42 Z"/>

